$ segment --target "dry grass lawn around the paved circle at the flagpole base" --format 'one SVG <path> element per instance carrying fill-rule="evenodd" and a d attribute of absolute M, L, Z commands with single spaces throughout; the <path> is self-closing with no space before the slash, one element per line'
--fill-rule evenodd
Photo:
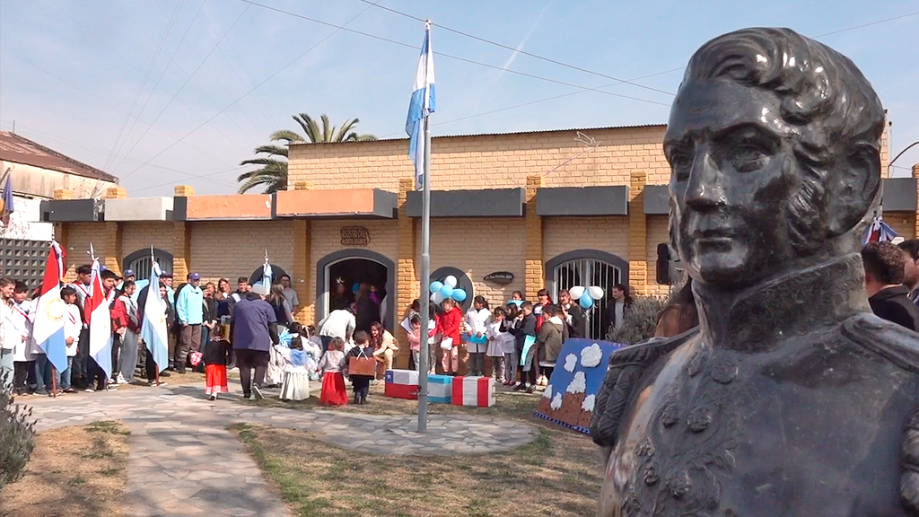
<path fill-rule="evenodd" d="M 322 410 L 415 412 L 415 401 L 381 392 L 381 384 L 372 386 L 367 406 Z M 231 429 L 299 517 L 593 515 L 602 481 L 596 445 L 583 434 L 534 417 L 539 395 L 502 392 L 496 399 L 493 408 L 435 404 L 430 412 L 522 420 L 539 429 L 539 439 L 506 453 L 380 456 L 341 449 L 305 431 L 248 424 Z M 315 400 L 241 404 L 314 408 Z"/>

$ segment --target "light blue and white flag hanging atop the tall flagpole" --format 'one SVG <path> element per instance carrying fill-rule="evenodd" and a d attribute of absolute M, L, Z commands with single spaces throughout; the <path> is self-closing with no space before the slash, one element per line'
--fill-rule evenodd
<path fill-rule="evenodd" d="M 425 124 L 428 115 L 437 108 L 434 90 L 434 52 L 431 52 L 431 22 L 425 23 L 425 42 L 421 45 L 418 72 L 414 75 L 412 102 L 408 105 L 405 132 L 410 140 L 408 155 L 414 162 L 414 188 L 422 190 L 425 184 Z"/>

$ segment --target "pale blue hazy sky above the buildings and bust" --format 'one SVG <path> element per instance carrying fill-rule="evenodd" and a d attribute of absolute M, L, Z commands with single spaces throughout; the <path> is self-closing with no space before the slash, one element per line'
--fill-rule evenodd
<path fill-rule="evenodd" d="M 403 135 L 422 23 L 359 0 L 257 1 L 411 47 L 240 0 L 10 0 L 0 7 L 0 128 L 16 121 L 18 133 L 122 178 L 131 196 L 171 195 L 176 184 L 201 194 L 235 190 L 239 162 L 270 132 L 298 129 L 294 113 L 327 113 L 336 124 L 358 117 L 361 132 Z M 692 52 L 720 33 L 782 26 L 818 36 L 915 13 L 819 40 L 852 58 L 878 90 L 894 154 L 919 140 L 914 0 L 870 9 L 785 0 L 380 5 L 601 75 L 643 77 L 635 82 L 652 88 L 603 88 L 630 97 L 621 98 L 516 75 L 589 88 L 614 82 L 435 27 L 435 52 L 496 67 L 435 58 L 435 135 L 665 122 L 672 96 L 654 90 L 675 92 Z M 895 174 L 917 162 L 919 146 Z"/>

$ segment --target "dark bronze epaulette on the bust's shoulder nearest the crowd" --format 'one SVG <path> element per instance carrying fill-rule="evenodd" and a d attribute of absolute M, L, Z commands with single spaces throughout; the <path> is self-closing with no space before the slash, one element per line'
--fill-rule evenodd
<path fill-rule="evenodd" d="M 673 338 L 650 339 L 613 352 L 590 422 L 590 436 L 597 445 L 611 447 L 616 444 L 619 421 L 643 373 L 697 334 L 698 327 Z"/>

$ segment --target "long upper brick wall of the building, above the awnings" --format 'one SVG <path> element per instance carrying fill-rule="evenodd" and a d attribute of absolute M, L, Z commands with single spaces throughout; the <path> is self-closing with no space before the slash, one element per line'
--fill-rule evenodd
<path fill-rule="evenodd" d="M 661 148 L 664 130 L 663 125 L 582 130 L 601 144 L 567 164 L 585 148 L 574 141 L 576 131 L 437 137 L 431 144 L 431 189 L 523 188 L 532 174 L 544 175 L 547 187 L 629 185 L 635 170 L 644 171 L 651 184 L 664 183 L 670 174 Z M 407 149 L 407 140 L 292 145 L 289 181 L 310 181 L 316 189 L 395 192 L 400 178 L 414 174 Z"/>

